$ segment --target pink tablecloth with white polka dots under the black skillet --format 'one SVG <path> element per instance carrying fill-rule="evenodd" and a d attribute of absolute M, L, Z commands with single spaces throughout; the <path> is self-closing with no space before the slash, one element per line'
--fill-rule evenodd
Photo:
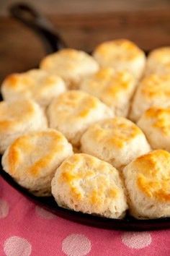
<path fill-rule="evenodd" d="M 169 256 L 170 230 L 108 231 L 66 221 L 30 202 L 0 178 L 0 255 Z"/>

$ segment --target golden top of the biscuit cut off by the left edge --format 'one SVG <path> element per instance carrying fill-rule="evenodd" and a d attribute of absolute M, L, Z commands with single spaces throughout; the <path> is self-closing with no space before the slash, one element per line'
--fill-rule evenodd
<path fill-rule="evenodd" d="M 29 121 L 37 113 L 37 104 L 30 100 L 0 103 L 0 132 L 15 129 Z"/>

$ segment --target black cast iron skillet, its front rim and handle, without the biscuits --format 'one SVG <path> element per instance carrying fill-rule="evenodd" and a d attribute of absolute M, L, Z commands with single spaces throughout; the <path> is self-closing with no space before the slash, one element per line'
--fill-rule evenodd
<path fill-rule="evenodd" d="M 42 15 L 37 11 L 35 11 L 35 9 L 32 9 L 25 4 L 14 4 L 10 8 L 10 13 L 13 17 L 17 18 L 17 20 L 32 28 L 35 33 L 40 35 L 42 42 L 45 44 L 47 54 L 53 53 L 54 51 L 58 51 L 59 49 L 66 47 L 66 44 L 63 42 L 60 36 L 55 33 L 53 25 L 45 20 L 45 18 L 42 17 Z M 37 205 L 40 205 L 42 208 L 49 210 L 57 216 L 66 218 L 71 221 L 84 223 L 89 226 L 96 226 L 98 228 L 123 229 L 129 231 L 170 228 L 170 218 L 137 220 L 127 214 L 124 219 L 117 220 L 92 216 L 85 213 L 74 212 L 72 210 L 66 210 L 59 207 L 53 197 L 35 197 L 34 195 L 30 194 L 27 189 L 24 189 L 23 187 L 19 186 L 19 184 L 14 182 L 12 177 L 3 171 L 2 167 L 0 174 L 7 183 L 17 189 L 20 193 L 22 193 L 22 195 L 35 202 Z"/>

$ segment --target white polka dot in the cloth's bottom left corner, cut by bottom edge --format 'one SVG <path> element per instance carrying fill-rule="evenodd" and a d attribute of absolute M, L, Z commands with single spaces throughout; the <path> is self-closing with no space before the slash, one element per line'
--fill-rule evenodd
<path fill-rule="evenodd" d="M 4 242 L 4 253 L 6 256 L 29 256 L 32 246 L 27 239 L 19 236 L 11 236 Z"/>

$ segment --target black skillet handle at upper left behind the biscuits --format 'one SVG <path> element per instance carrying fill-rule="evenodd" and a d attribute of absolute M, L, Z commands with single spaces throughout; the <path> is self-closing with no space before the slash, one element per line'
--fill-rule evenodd
<path fill-rule="evenodd" d="M 47 54 L 51 54 L 66 47 L 66 43 L 55 33 L 53 25 L 45 19 L 37 10 L 27 4 L 13 4 L 9 12 L 15 19 L 30 27 L 40 36 Z"/>

